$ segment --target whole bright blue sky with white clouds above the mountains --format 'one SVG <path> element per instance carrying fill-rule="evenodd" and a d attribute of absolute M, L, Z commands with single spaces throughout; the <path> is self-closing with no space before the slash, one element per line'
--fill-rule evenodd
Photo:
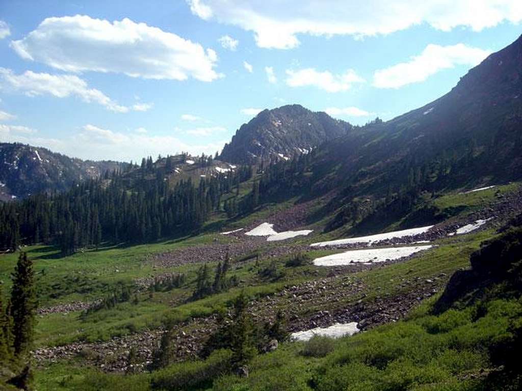
<path fill-rule="evenodd" d="M 259 109 L 353 124 L 448 92 L 522 2 L 0 0 L 0 140 L 70 156 L 213 153 Z"/>

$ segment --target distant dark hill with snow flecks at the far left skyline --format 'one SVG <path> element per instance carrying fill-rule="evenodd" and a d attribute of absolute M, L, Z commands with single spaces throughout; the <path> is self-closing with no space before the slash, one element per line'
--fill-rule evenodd
<path fill-rule="evenodd" d="M 0 201 L 26 197 L 39 191 L 68 189 L 74 182 L 98 178 L 117 162 L 92 162 L 70 158 L 45 148 L 0 143 Z"/>

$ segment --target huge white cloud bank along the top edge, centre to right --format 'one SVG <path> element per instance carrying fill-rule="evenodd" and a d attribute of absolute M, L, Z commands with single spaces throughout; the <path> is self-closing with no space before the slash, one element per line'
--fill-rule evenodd
<path fill-rule="evenodd" d="M 389 34 L 427 23 L 449 31 L 473 31 L 503 21 L 522 20 L 520 0 L 187 0 L 192 13 L 254 32 L 260 47 L 288 49 L 299 45 L 298 34 L 352 35 L 355 38 Z"/>

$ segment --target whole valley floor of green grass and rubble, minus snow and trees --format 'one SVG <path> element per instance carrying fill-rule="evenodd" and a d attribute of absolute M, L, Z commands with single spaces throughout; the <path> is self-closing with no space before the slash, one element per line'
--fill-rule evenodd
<path fill-rule="evenodd" d="M 435 202 L 441 207 L 465 205 L 464 212 L 418 235 L 371 243 L 372 249 L 414 242 L 428 242 L 431 248 L 399 259 L 337 266 L 312 261 L 367 249 L 369 243 L 310 246 L 342 233 L 325 235 L 319 226 L 306 227 L 302 205 L 234 222 L 222 229 L 232 231 L 227 235 L 214 231 L 65 258 L 52 247 L 27 248 L 35 261 L 40 298 L 33 355 L 37 389 L 486 389 L 480 387 L 488 375 L 502 368 L 489 361 L 483 344 L 520 319 L 520 300 L 491 301 L 478 322 L 472 306 L 438 315 L 431 309 L 452 274 L 469 267 L 469 256 L 480 243 L 497 237 L 497 230 L 522 212 L 521 199 L 518 185 L 448 194 Z M 292 217 L 285 220 L 285 213 Z M 489 220 L 448 235 L 479 219 Z M 278 232 L 313 232 L 282 241 L 245 235 L 264 222 L 274 223 Z M 296 254 L 304 261 L 292 264 Z M 198 268 L 207 263 L 213 277 L 217 263 L 227 258 L 229 277 L 236 283 L 227 291 L 193 299 Z M 16 254 L 0 256 L 4 289 L 15 260 Z M 177 276 L 183 278 L 173 284 Z M 88 311 L 127 287 L 131 300 Z M 202 351 L 208 337 L 228 321 L 231 303 L 242 291 L 255 323 L 273 323 L 282 311 L 290 332 L 357 322 L 361 333 L 335 342 L 285 341 L 275 351 L 257 355 L 248 377 L 227 373 L 220 365 L 229 360 L 228 350 L 207 358 Z M 149 373 L 165 319 L 175 325 L 172 364 Z"/>

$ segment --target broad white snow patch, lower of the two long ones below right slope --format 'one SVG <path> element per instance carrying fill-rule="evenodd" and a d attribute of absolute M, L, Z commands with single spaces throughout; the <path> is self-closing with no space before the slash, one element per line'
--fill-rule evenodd
<path fill-rule="evenodd" d="M 403 256 L 409 256 L 433 246 L 390 247 L 383 249 L 349 250 L 339 254 L 321 256 L 314 259 L 316 266 L 341 266 L 351 263 L 371 264 L 375 262 L 393 261 Z"/>

